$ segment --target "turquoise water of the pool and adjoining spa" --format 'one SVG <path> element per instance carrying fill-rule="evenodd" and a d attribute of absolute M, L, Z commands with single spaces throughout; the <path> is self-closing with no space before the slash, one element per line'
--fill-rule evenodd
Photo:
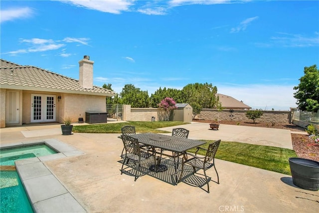
<path fill-rule="evenodd" d="M 45 144 L 1 149 L 0 166 L 14 161 L 57 153 Z M 0 170 L 0 213 L 33 213 L 32 206 L 16 171 Z"/>

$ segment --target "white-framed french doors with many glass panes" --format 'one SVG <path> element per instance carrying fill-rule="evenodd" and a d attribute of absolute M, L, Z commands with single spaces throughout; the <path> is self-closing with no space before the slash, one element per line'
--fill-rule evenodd
<path fill-rule="evenodd" d="M 55 95 L 31 94 L 31 123 L 55 121 Z"/>

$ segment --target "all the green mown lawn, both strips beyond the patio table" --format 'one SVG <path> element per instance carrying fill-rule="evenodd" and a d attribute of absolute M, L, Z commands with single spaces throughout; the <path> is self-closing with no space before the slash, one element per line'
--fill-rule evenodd
<path fill-rule="evenodd" d="M 156 121 L 156 122 L 140 122 L 132 121 L 126 123 L 113 124 L 96 124 L 74 126 L 73 132 L 82 133 L 121 133 L 121 128 L 126 125 L 135 126 L 137 133 L 154 132 L 167 133 L 166 131 L 156 130 L 162 127 L 176 126 L 186 124 L 180 121 Z M 213 142 L 206 140 L 206 144 L 202 147 L 207 148 L 208 144 Z M 196 149 L 188 150 L 195 152 Z M 199 153 L 205 155 L 205 153 Z M 246 144 L 239 142 L 222 141 L 219 145 L 215 158 L 243 164 L 251 167 L 265 169 L 286 175 L 291 175 L 289 161 L 291 157 L 297 157 L 295 151 L 290 149 L 261 146 L 254 144 Z"/>

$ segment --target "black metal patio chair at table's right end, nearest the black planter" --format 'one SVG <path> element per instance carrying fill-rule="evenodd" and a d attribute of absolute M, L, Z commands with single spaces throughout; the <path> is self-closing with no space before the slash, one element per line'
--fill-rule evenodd
<path fill-rule="evenodd" d="M 195 155 L 192 153 L 186 153 L 183 157 L 183 162 L 182 162 L 182 166 L 181 166 L 181 173 L 180 173 L 180 178 L 178 183 L 181 181 L 182 175 L 183 175 L 183 169 L 184 169 L 184 165 L 190 165 L 193 167 L 193 174 L 196 173 L 196 168 L 198 169 L 202 169 L 204 171 L 204 176 L 206 179 L 206 184 L 207 184 L 207 192 L 209 193 L 209 183 L 208 183 L 208 178 L 206 175 L 206 170 L 214 167 L 215 172 L 217 174 L 217 184 L 219 184 L 219 177 L 218 177 L 218 173 L 215 167 L 215 154 L 217 152 L 217 149 L 219 147 L 220 144 L 220 140 L 215 141 L 214 143 L 209 144 L 207 149 L 201 148 L 201 147 L 197 147 L 197 150 L 195 152 Z M 199 150 L 206 150 L 206 155 L 205 156 L 197 156 L 197 152 Z M 187 159 L 187 155 L 192 156 L 192 158 Z"/>

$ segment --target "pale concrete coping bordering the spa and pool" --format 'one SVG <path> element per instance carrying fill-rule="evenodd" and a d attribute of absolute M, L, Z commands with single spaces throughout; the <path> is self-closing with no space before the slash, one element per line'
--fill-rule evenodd
<path fill-rule="evenodd" d="M 34 212 L 86 213 L 85 209 L 43 163 L 83 155 L 83 152 L 56 139 L 0 145 L 0 149 L 36 144 L 46 144 L 58 153 L 15 161 L 16 171 Z"/>

